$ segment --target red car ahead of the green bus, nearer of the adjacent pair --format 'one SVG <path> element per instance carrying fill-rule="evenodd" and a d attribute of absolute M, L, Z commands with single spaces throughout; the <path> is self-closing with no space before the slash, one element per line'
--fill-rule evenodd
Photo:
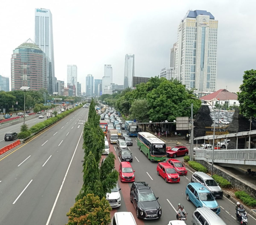
<path fill-rule="evenodd" d="M 180 176 L 176 170 L 169 163 L 158 163 L 157 175 L 164 178 L 165 182 L 178 183 L 180 182 Z"/>

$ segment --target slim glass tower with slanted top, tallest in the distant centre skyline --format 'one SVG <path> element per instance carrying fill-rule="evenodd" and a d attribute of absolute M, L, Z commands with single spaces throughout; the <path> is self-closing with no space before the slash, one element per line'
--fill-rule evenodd
<path fill-rule="evenodd" d="M 132 88 L 132 78 L 134 77 L 134 55 L 125 55 L 124 64 L 124 89 L 127 87 Z"/>

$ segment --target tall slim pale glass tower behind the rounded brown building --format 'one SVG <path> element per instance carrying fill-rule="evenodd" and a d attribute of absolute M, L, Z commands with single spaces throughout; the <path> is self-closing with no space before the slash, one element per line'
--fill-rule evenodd
<path fill-rule="evenodd" d="M 47 9 L 35 9 L 35 43 L 49 58 L 47 66 L 47 89 L 50 94 L 55 91 L 54 51 L 52 13 Z"/>

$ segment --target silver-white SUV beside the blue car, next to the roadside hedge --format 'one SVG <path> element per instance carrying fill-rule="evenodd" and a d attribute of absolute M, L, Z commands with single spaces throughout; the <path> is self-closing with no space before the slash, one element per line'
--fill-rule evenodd
<path fill-rule="evenodd" d="M 215 198 L 222 198 L 223 191 L 217 182 L 204 172 L 194 172 L 191 177 L 191 182 L 200 183 L 205 186 Z"/>

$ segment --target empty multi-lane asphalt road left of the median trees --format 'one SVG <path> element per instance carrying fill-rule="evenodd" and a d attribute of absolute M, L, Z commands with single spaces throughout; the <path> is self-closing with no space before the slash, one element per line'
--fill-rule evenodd
<path fill-rule="evenodd" d="M 5 207 L 0 212 L 0 224 L 46 224 L 74 152 L 79 153 L 77 159 L 82 156 L 83 160 L 82 140 L 80 144 L 78 141 L 86 118 L 87 110 L 80 109 L 1 160 L 0 201 Z M 83 181 L 82 162 L 73 162 L 72 166 L 73 172 L 79 174 L 77 180 L 66 183 L 68 187 L 63 185 L 66 194 L 60 195 L 59 201 L 65 204 L 55 208 L 61 212 L 61 224 L 67 222 L 66 213 Z M 67 180 L 75 177 L 69 176 Z"/>

